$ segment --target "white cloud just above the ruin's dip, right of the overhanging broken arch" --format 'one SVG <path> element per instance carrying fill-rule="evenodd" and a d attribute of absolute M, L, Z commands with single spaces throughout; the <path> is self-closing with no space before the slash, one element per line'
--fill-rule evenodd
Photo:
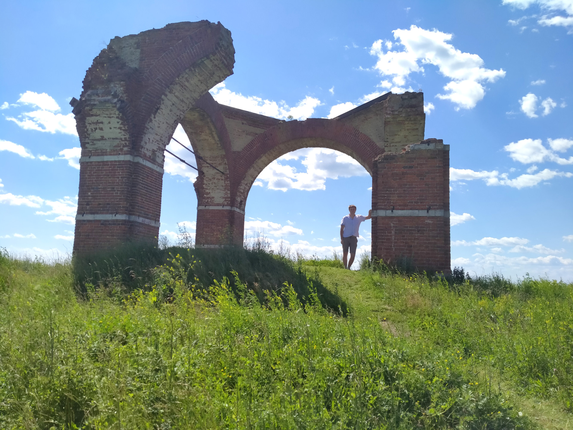
<path fill-rule="evenodd" d="M 310 118 L 315 108 L 320 105 L 319 99 L 306 96 L 295 107 L 289 107 L 285 101 L 277 103 L 276 101 L 263 100 L 261 97 L 244 96 L 241 93 L 230 91 L 225 87 L 224 82 L 211 88 L 210 93 L 218 103 L 278 119 L 287 119 L 288 116 L 293 116 L 294 119 L 304 120 Z"/>

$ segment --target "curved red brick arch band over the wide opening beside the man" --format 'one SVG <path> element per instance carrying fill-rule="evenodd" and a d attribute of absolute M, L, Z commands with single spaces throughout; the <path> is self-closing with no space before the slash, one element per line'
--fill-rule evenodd
<path fill-rule="evenodd" d="M 245 209 L 253 182 L 272 161 L 300 148 L 322 147 L 347 154 L 372 175 L 372 160 L 384 150 L 356 128 L 340 122 L 313 118 L 280 123 L 254 138 L 245 147 L 245 157 L 236 172 L 237 207 Z"/>

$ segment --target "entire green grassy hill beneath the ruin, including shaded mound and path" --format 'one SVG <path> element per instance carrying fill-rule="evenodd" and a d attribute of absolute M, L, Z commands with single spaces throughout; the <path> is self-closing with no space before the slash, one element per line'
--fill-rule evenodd
<path fill-rule="evenodd" d="M 573 284 L 167 251 L 2 254 L 0 428 L 573 425 Z"/>

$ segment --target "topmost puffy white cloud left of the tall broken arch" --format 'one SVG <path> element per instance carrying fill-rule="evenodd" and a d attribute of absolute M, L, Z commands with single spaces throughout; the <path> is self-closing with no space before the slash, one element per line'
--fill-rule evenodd
<path fill-rule="evenodd" d="M 34 110 L 23 112 L 18 118 L 7 117 L 24 130 L 36 130 L 49 133 L 64 133 L 77 136 L 76 120 L 73 114 L 58 114 L 60 106 L 46 93 L 26 91 L 17 101 L 18 105 Z"/>

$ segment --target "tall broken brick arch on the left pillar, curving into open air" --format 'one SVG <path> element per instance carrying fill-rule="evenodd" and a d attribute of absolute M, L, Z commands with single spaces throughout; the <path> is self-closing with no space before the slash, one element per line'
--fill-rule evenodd
<path fill-rule="evenodd" d="M 229 30 L 209 21 L 116 37 L 94 59 L 70 102 L 82 150 L 75 254 L 158 236 L 164 149 L 233 64 Z"/>

